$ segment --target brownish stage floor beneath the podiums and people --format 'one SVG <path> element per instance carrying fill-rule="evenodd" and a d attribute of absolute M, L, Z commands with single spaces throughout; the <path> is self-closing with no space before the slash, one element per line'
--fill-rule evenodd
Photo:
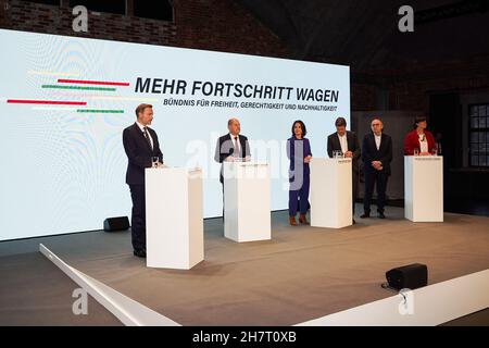
<path fill-rule="evenodd" d="M 9 323 L 7 315 L 22 324 L 12 304 L 21 303 L 25 289 L 20 286 L 30 283 L 36 288 L 43 282 L 33 271 L 49 268 L 49 261 L 35 253 L 39 243 L 70 265 L 183 325 L 301 323 L 394 295 L 380 287 L 385 272 L 409 263 L 427 264 L 429 284 L 489 269 L 489 217 L 446 213 L 444 223 L 412 223 L 403 219 L 402 208 L 391 207 L 386 215 L 356 217 L 356 225 L 328 229 L 290 226 L 287 212 L 275 212 L 273 239 L 246 244 L 224 238 L 221 219 L 206 220 L 205 260 L 190 271 L 147 269 L 145 260 L 131 254 L 129 232 L 0 243 L 0 277 L 5 279 L 7 272 L 12 278 L 1 285 L 0 325 Z M 32 268 L 25 258 L 32 259 Z M 20 260 L 26 274 L 12 271 Z M 50 272 L 65 277 L 52 268 Z M 13 281 L 23 276 L 29 278 Z M 45 291 L 49 298 L 51 293 Z M 117 324 L 93 300 L 89 306 L 96 313 L 89 315 L 92 324 Z"/>

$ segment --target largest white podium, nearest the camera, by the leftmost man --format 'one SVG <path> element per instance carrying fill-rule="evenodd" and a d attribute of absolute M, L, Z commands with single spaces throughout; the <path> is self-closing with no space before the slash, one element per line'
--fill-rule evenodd
<path fill-rule="evenodd" d="M 203 260 L 202 171 L 146 169 L 149 268 L 189 270 Z"/>

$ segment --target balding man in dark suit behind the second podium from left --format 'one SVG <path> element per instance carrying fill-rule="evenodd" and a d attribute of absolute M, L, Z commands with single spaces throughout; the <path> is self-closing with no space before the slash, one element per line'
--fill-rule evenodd
<path fill-rule="evenodd" d="M 235 160 L 250 160 L 250 145 L 248 144 L 248 138 L 240 135 L 241 124 L 238 119 L 230 119 L 227 122 L 228 134 L 223 135 L 217 139 L 215 146 L 214 160 L 216 162 L 223 163 L 225 161 Z M 221 165 L 220 182 L 223 184 L 223 219 L 224 219 L 224 177 L 223 177 L 223 165 Z"/>

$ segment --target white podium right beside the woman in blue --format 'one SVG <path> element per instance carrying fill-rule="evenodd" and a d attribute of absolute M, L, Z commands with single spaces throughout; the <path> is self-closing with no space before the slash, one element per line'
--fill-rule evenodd
<path fill-rule="evenodd" d="M 352 224 L 351 159 L 313 158 L 311 226 L 341 228 Z"/>

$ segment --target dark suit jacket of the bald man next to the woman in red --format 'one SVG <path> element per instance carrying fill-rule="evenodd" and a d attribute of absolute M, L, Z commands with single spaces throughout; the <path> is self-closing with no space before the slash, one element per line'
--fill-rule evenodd
<path fill-rule="evenodd" d="M 392 161 L 392 138 L 387 134 L 381 135 L 380 148 L 377 150 L 375 145 L 374 133 L 368 133 L 363 138 L 362 144 L 362 160 L 365 171 L 378 172 L 372 166 L 372 161 L 380 161 L 383 170 L 387 175 L 390 175 L 390 162 Z"/>

